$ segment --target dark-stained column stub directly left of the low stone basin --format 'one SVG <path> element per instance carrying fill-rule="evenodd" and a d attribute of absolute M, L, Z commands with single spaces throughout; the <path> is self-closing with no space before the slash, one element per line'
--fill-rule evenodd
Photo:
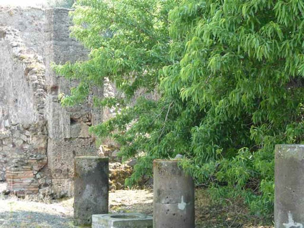
<path fill-rule="evenodd" d="M 109 158 L 75 157 L 74 169 L 74 225 L 90 225 L 109 212 Z"/>

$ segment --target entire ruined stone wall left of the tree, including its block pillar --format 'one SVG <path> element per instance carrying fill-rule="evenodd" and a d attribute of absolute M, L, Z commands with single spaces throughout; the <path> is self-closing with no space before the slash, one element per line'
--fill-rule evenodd
<path fill-rule="evenodd" d="M 97 155 L 88 133 L 103 119 L 84 105 L 63 108 L 59 93 L 77 81 L 56 75 L 51 64 L 83 60 L 88 51 L 69 37 L 67 9 L 0 7 L 0 180 L 22 195 L 73 193 L 75 156 Z M 96 88 L 102 95 L 103 88 Z"/>

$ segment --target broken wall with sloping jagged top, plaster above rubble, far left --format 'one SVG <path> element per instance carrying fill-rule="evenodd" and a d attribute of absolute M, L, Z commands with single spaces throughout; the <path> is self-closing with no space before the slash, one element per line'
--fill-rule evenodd
<path fill-rule="evenodd" d="M 0 53 L 0 179 L 35 193 L 35 174 L 47 163 L 45 67 L 9 26 L 0 26 Z"/>

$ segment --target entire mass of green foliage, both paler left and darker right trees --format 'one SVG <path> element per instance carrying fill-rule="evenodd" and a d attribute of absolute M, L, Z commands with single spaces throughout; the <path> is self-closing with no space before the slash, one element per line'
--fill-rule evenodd
<path fill-rule="evenodd" d="M 272 210 L 274 145 L 304 136 L 302 0 L 80 0 L 72 16 L 91 53 L 56 67 L 81 81 L 62 103 L 104 77 L 124 93 L 95 99 L 121 111 L 92 132 L 112 136 L 124 158 L 143 152 L 127 184 L 151 174 L 154 158 L 185 154 L 215 199 Z"/>

